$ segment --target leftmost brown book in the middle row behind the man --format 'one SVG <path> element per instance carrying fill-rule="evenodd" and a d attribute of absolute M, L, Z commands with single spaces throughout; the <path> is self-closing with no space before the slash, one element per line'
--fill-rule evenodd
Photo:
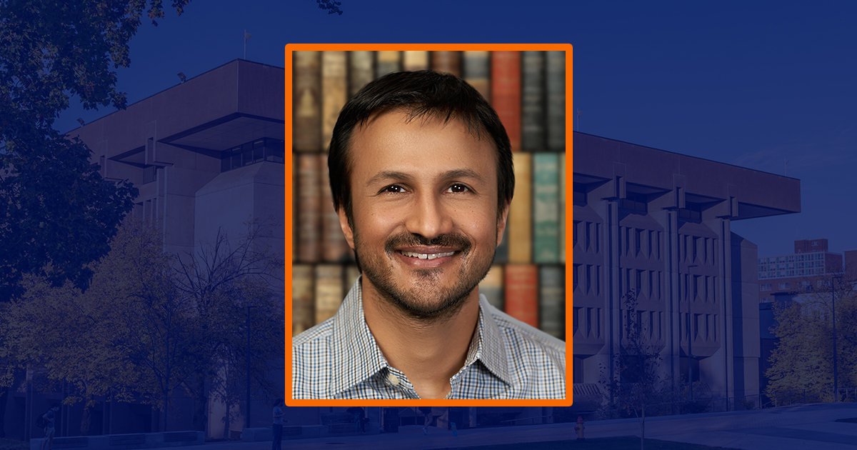
<path fill-rule="evenodd" d="M 316 262 L 321 258 L 322 153 L 297 153 L 297 261 Z"/>

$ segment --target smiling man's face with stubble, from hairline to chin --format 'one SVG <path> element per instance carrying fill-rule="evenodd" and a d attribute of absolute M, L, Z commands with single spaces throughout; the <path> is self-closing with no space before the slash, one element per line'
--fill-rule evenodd
<path fill-rule="evenodd" d="M 493 141 L 464 123 L 373 117 L 351 137 L 353 229 L 339 222 L 375 291 L 412 317 L 454 314 L 488 273 L 506 226 Z M 369 290 L 369 292 L 367 291 Z"/>

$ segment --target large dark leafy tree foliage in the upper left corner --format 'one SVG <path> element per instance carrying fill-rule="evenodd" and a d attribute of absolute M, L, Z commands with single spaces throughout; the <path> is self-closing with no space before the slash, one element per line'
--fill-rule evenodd
<path fill-rule="evenodd" d="M 84 288 L 133 206 L 132 186 L 103 180 L 86 145 L 52 126 L 72 97 L 124 107 L 116 69 L 144 12 L 157 23 L 162 0 L 0 0 L 0 301 L 27 273 Z"/>

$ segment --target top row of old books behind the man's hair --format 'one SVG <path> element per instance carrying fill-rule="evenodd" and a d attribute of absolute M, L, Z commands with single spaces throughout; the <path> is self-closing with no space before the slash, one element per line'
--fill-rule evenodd
<path fill-rule="evenodd" d="M 296 51 L 293 148 L 323 152 L 339 111 L 377 77 L 434 69 L 458 75 L 494 106 L 512 151 L 564 152 L 564 51 Z"/>

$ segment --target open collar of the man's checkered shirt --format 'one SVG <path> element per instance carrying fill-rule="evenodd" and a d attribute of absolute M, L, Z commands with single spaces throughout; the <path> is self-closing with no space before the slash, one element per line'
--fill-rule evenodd
<path fill-rule="evenodd" d="M 328 393 L 332 399 L 339 398 L 341 393 L 369 379 L 388 365 L 363 315 L 361 279 L 362 275 L 351 285 L 333 320 L 333 357 L 341 371 L 332 377 Z M 488 299 L 480 294 L 479 326 L 470 340 L 464 369 L 480 361 L 492 374 L 511 385 L 505 339 L 494 321 L 495 310 Z"/>

